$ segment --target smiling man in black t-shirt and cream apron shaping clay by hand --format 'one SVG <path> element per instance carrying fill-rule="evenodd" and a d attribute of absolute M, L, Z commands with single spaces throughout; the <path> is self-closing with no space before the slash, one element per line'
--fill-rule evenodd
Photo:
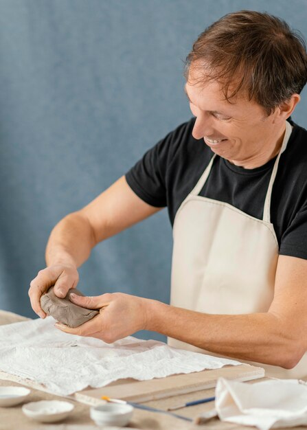
<path fill-rule="evenodd" d="M 100 315 L 60 330 L 113 342 L 148 329 L 170 345 L 307 374 L 307 131 L 290 117 L 307 80 L 304 42 L 260 12 L 228 14 L 185 67 L 194 115 L 127 174 L 56 225 L 32 307 L 65 297 L 98 242 L 168 207 L 171 306 L 122 293 L 71 297 Z M 293 369 L 293 370 L 291 370 Z"/>

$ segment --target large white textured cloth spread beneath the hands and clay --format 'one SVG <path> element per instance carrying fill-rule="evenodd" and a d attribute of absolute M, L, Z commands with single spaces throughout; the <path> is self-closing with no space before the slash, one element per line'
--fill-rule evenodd
<path fill-rule="evenodd" d="M 0 327 L 0 370 L 68 395 L 121 378 L 148 380 L 239 365 L 166 343 L 126 337 L 114 343 L 61 332 L 52 317 Z"/>

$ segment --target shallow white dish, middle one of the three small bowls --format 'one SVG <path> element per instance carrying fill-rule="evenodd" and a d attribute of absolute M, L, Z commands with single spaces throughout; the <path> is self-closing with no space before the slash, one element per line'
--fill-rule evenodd
<path fill-rule="evenodd" d="M 40 400 L 23 405 L 23 414 L 38 422 L 57 422 L 64 420 L 74 406 L 62 400 Z"/>

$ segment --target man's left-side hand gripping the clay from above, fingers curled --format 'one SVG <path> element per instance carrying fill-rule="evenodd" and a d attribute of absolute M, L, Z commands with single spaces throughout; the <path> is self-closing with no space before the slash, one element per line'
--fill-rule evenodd
<path fill-rule="evenodd" d="M 50 286 L 54 286 L 54 293 L 62 299 L 67 295 L 69 288 L 76 288 L 78 281 L 78 270 L 74 266 L 53 264 L 40 270 L 31 281 L 28 291 L 34 312 L 41 318 L 47 316 L 41 308 L 41 296 Z"/>

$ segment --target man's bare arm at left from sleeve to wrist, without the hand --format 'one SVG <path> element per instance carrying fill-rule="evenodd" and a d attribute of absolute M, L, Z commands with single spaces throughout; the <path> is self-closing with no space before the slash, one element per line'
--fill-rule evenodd
<path fill-rule="evenodd" d="M 79 267 L 99 242 L 160 209 L 139 199 L 125 177 L 121 177 L 87 206 L 65 216 L 54 227 L 46 248 L 47 265 L 72 258 Z"/>

